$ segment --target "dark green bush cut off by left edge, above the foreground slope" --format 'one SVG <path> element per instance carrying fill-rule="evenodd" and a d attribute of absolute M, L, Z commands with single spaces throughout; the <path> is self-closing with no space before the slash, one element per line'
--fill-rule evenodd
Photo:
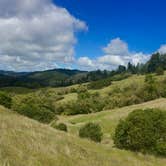
<path fill-rule="evenodd" d="M 6 108 L 11 108 L 12 98 L 4 92 L 0 92 L 0 105 L 5 106 Z"/>

